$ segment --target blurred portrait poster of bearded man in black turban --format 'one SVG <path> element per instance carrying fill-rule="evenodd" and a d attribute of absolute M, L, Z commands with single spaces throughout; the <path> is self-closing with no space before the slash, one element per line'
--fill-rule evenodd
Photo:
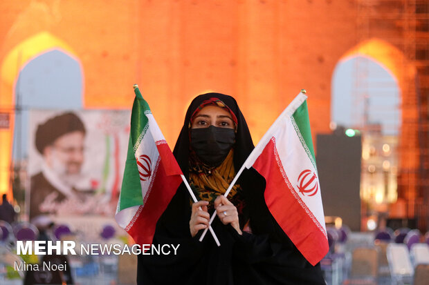
<path fill-rule="evenodd" d="M 129 137 L 127 110 L 31 110 L 30 219 L 113 217 Z"/>

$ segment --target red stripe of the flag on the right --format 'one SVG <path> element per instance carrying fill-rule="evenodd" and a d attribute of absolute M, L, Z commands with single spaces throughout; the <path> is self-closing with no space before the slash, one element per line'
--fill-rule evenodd
<path fill-rule="evenodd" d="M 274 138 L 265 146 L 253 168 L 266 179 L 264 196 L 271 214 L 302 255 L 316 265 L 329 250 L 325 229 L 289 182 Z"/>

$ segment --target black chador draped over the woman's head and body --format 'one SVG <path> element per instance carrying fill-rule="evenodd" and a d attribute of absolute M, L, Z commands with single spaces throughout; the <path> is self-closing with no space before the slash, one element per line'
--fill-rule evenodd
<path fill-rule="evenodd" d="M 195 169 L 190 165 L 194 161 L 190 120 L 201 104 L 213 98 L 223 102 L 235 115 L 237 126 L 232 146 L 235 170 L 241 168 L 254 148 L 234 98 L 219 93 L 199 95 L 188 108 L 173 152 L 188 179 Z M 252 115 L 257 116 L 257 110 Z M 210 169 L 200 171 L 206 171 L 206 175 L 211 173 Z M 230 201 L 239 212 L 243 234 L 239 235 L 230 224 L 223 225 L 216 218 L 212 228 L 221 243 L 219 247 L 210 233 L 203 242 L 199 242 L 202 230 L 195 237 L 191 236 L 192 200 L 181 184 L 158 220 L 153 240 L 154 244 L 180 244 L 177 254 L 139 255 L 138 284 L 325 284 L 320 265 L 312 266 L 307 262 L 269 212 L 264 201 L 265 184 L 265 179 L 252 168 L 241 174 L 235 187 L 237 195 Z M 194 190 L 201 194 L 195 187 Z M 201 195 L 199 197 L 202 199 Z M 209 210 L 210 215 L 211 212 Z"/>

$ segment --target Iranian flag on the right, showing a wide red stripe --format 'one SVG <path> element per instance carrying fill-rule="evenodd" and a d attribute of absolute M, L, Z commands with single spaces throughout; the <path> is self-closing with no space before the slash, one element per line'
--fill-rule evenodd
<path fill-rule="evenodd" d="M 315 265 L 329 246 L 306 99 L 302 92 L 293 99 L 244 164 L 265 177 L 268 209 Z"/>

